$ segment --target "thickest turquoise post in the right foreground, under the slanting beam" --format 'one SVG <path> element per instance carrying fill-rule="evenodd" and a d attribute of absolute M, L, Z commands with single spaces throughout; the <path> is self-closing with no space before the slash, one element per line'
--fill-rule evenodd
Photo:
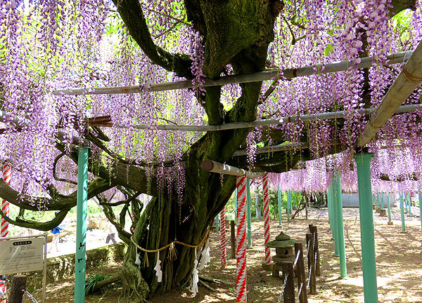
<path fill-rule="evenodd" d="M 364 302 L 377 303 L 375 240 L 371 203 L 371 158 L 373 154 L 356 154 L 359 217 L 362 241 L 362 271 L 364 275 Z"/>

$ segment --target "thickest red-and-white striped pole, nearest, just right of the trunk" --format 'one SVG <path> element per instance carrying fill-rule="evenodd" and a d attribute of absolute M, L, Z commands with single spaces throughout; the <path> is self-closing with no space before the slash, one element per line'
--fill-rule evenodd
<path fill-rule="evenodd" d="M 237 268 L 236 302 L 247 302 L 246 298 L 246 177 L 236 177 L 238 192 L 237 217 Z"/>

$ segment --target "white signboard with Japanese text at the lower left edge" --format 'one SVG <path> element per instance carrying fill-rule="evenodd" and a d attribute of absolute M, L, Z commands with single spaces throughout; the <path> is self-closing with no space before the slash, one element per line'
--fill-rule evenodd
<path fill-rule="evenodd" d="M 44 238 L 0 241 L 0 274 L 18 274 L 43 269 Z"/>

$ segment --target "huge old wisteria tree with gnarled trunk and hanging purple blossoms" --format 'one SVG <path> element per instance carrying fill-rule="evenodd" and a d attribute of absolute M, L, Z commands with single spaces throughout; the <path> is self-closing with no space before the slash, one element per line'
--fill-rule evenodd
<path fill-rule="evenodd" d="M 0 195 L 23 210 L 60 210 L 51 222 L 1 216 L 47 231 L 76 205 L 75 163 L 88 140 L 89 198 L 129 245 L 122 281 L 139 301 L 191 279 L 195 251 L 177 240 L 201 243 L 235 188 L 233 176 L 206 173 L 205 159 L 269 173 L 353 148 L 367 117 L 362 107 L 381 102 L 400 67 L 385 67 L 388 53 L 413 49 L 421 38 L 418 1 L 2 1 L 0 83 L 4 130 L 2 161 L 13 168 Z M 409 10 L 410 8 L 411 10 Z M 31 39 L 29 39 L 31 37 Z M 203 87 L 205 78 L 250 74 L 372 56 L 373 66 L 338 74 Z M 352 66 L 353 67 L 353 66 Z M 193 89 L 151 93 L 151 84 L 191 80 Z M 51 89 L 124 86 L 136 95 L 53 96 Z M 408 102 L 418 102 L 416 92 Z M 162 123 L 219 125 L 344 109 L 345 119 L 290 123 L 207 133 L 165 132 Z M 110 128 L 92 117 L 110 115 Z M 404 137 L 420 131 L 418 114 L 397 117 Z M 149 125 L 136 130 L 136 123 Z M 106 125 L 110 126 L 110 125 Z M 411 132 L 409 132 L 411 129 Z M 63 135 L 64 134 L 64 135 Z M 397 128 L 380 135 L 395 140 Z M 79 139 L 78 139 L 79 138 Z M 257 147 L 305 143 L 303 148 L 255 154 Z M 245 156 L 234 156 L 247 149 Z M 124 198 L 110 202 L 119 191 Z M 39 194 L 41 192 L 41 194 Z M 153 199 L 146 209 L 140 194 Z M 113 207 L 124 205 L 122 213 Z M 134 231 L 124 227 L 134 215 Z M 146 262 L 148 256 L 149 262 Z"/>

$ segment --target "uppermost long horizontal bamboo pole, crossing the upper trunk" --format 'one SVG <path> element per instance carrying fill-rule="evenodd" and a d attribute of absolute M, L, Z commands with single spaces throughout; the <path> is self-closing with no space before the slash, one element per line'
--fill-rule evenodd
<path fill-rule="evenodd" d="M 393 53 L 388 56 L 387 65 L 397 63 L 404 63 L 409 60 L 412 52 Z M 326 65 L 308 65 L 305 67 L 283 69 L 282 73 L 286 79 L 293 79 L 300 76 L 311 76 L 314 74 L 328 74 L 332 72 L 342 72 L 350 69 L 362 69 L 371 67 L 373 65 L 372 57 L 362 58 L 361 61 L 355 64 L 354 61 L 343 60 L 339 62 L 332 62 Z M 315 72 L 316 70 L 316 72 Z M 263 72 L 256 72 L 251 74 L 223 76 L 217 79 L 204 79 L 203 87 L 207 86 L 223 86 L 231 83 L 249 83 L 257 81 L 267 81 L 274 78 L 279 79 L 280 72 L 278 69 L 266 70 Z M 192 88 L 192 81 L 174 81 L 167 83 L 155 83 L 148 86 L 117 86 L 117 87 L 101 87 L 101 88 L 69 88 L 52 90 L 53 95 L 114 95 L 114 94 L 128 94 L 128 93 L 142 93 L 142 92 L 156 92 L 164 90 L 177 90 L 183 88 Z M 0 95 L 1 97 L 1 95 Z"/>

